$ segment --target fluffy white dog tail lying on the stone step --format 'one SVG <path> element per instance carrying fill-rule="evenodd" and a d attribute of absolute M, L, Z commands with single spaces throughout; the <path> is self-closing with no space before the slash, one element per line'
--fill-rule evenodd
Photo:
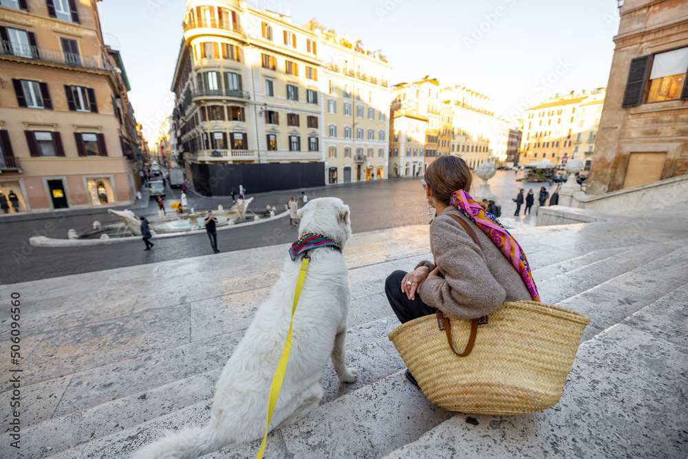
<path fill-rule="evenodd" d="M 224 443 L 215 438 L 213 429 L 183 429 L 168 432 L 164 438 L 136 451 L 131 459 L 195 459 L 223 446 Z"/>

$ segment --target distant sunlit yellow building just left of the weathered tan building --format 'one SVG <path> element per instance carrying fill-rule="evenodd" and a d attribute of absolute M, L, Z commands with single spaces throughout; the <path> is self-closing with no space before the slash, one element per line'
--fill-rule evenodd
<path fill-rule="evenodd" d="M 579 159 L 590 169 L 605 94 L 603 87 L 572 91 L 526 109 L 519 164 Z"/>

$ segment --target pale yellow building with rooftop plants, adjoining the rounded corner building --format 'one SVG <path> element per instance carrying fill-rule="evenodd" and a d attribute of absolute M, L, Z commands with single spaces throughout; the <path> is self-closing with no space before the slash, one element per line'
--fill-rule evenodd
<path fill-rule="evenodd" d="M 327 183 L 387 178 L 389 71 L 378 51 L 311 22 L 323 60 L 323 139 Z"/>

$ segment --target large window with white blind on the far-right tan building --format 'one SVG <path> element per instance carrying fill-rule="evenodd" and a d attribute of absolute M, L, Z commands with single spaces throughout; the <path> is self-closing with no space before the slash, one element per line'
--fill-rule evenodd
<path fill-rule="evenodd" d="M 654 55 L 649 74 L 647 102 L 681 98 L 688 69 L 688 47 Z"/>

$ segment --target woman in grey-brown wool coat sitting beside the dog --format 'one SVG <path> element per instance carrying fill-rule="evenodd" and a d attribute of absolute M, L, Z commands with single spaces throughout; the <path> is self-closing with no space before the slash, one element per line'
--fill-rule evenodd
<path fill-rule="evenodd" d="M 387 277 L 385 293 L 401 323 L 437 309 L 450 317 L 475 319 L 495 312 L 504 301 L 539 301 L 518 243 L 468 195 L 471 170 L 466 162 L 440 156 L 428 166 L 422 184 L 437 215 L 430 225 L 434 262 L 421 261 L 411 273 L 397 270 Z M 455 218 L 473 229 L 482 249 Z M 513 253 L 523 256 L 513 259 Z M 409 370 L 406 376 L 418 385 Z"/>

